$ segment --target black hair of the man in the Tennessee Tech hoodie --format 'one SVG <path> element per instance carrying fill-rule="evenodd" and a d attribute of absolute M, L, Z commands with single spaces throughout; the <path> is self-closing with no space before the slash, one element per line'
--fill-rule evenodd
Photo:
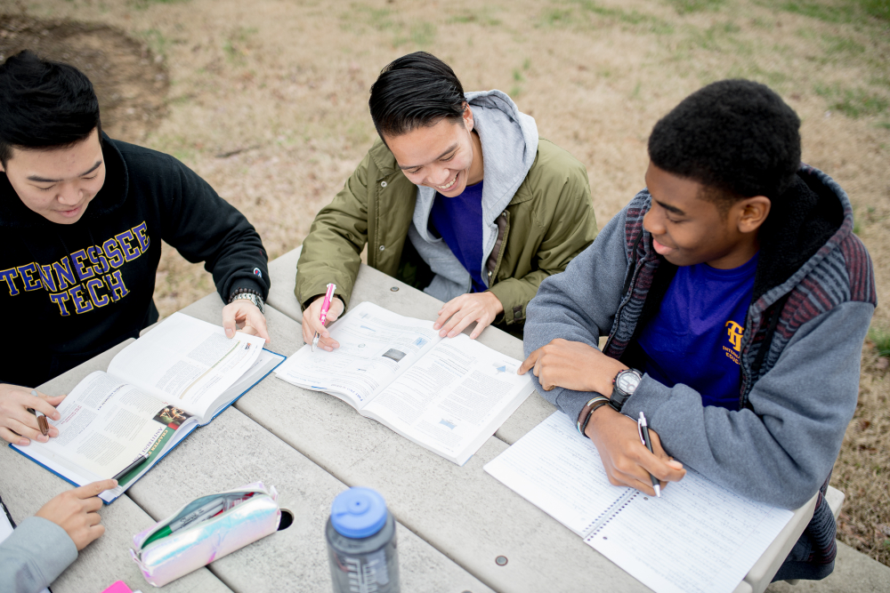
<path fill-rule="evenodd" d="M 0 163 L 12 148 L 65 147 L 98 129 L 99 100 L 77 68 L 19 52 L 0 65 Z"/>

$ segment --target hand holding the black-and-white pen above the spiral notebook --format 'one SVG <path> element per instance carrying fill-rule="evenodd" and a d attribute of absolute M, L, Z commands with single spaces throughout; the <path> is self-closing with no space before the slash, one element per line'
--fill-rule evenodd
<path fill-rule="evenodd" d="M 679 482 L 686 475 L 683 464 L 665 453 L 658 433 L 649 429 L 652 444 L 652 453 L 649 453 L 640 440 L 636 421 L 609 405 L 595 409 L 587 422 L 585 435 L 600 453 L 611 485 L 630 486 L 655 496 L 650 474 L 659 480 L 662 490 L 667 487 L 667 482 Z"/>

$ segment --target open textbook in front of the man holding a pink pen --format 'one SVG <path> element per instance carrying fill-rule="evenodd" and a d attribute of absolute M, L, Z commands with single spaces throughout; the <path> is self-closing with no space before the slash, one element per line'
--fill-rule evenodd
<path fill-rule="evenodd" d="M 303 346 L 276 375 L 339 397 L 358 412 L 458 465 L 534 391 L 520 361 L 433 322 L 362 302 L 330 328 L 333 352 Z"/>

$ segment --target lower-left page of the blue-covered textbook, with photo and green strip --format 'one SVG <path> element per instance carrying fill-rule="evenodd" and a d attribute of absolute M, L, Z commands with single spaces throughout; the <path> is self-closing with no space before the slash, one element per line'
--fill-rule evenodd
<path fill-rule="evenodd" d="M 190 413 L 101 371 L 80 381 L 56 409 L 61 419 L 47 420 L 59 429 L 58 437 L 13 446 L 70 480 L 83 480 L 80 485 L 114 477 L 141 455 L 150 466 L 174 433 L 187 434 L 197 424 Z"/>

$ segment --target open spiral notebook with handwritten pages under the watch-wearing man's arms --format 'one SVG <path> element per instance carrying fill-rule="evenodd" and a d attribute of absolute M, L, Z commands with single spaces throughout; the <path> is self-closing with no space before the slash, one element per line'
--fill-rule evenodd
<path fill-rule="evenodd" d="M 613 486 L 596 447 L 562 412 L 485 471 L 659 593 L 730 593 L 793 516 L 689 468 L 661 498 Z"/>

